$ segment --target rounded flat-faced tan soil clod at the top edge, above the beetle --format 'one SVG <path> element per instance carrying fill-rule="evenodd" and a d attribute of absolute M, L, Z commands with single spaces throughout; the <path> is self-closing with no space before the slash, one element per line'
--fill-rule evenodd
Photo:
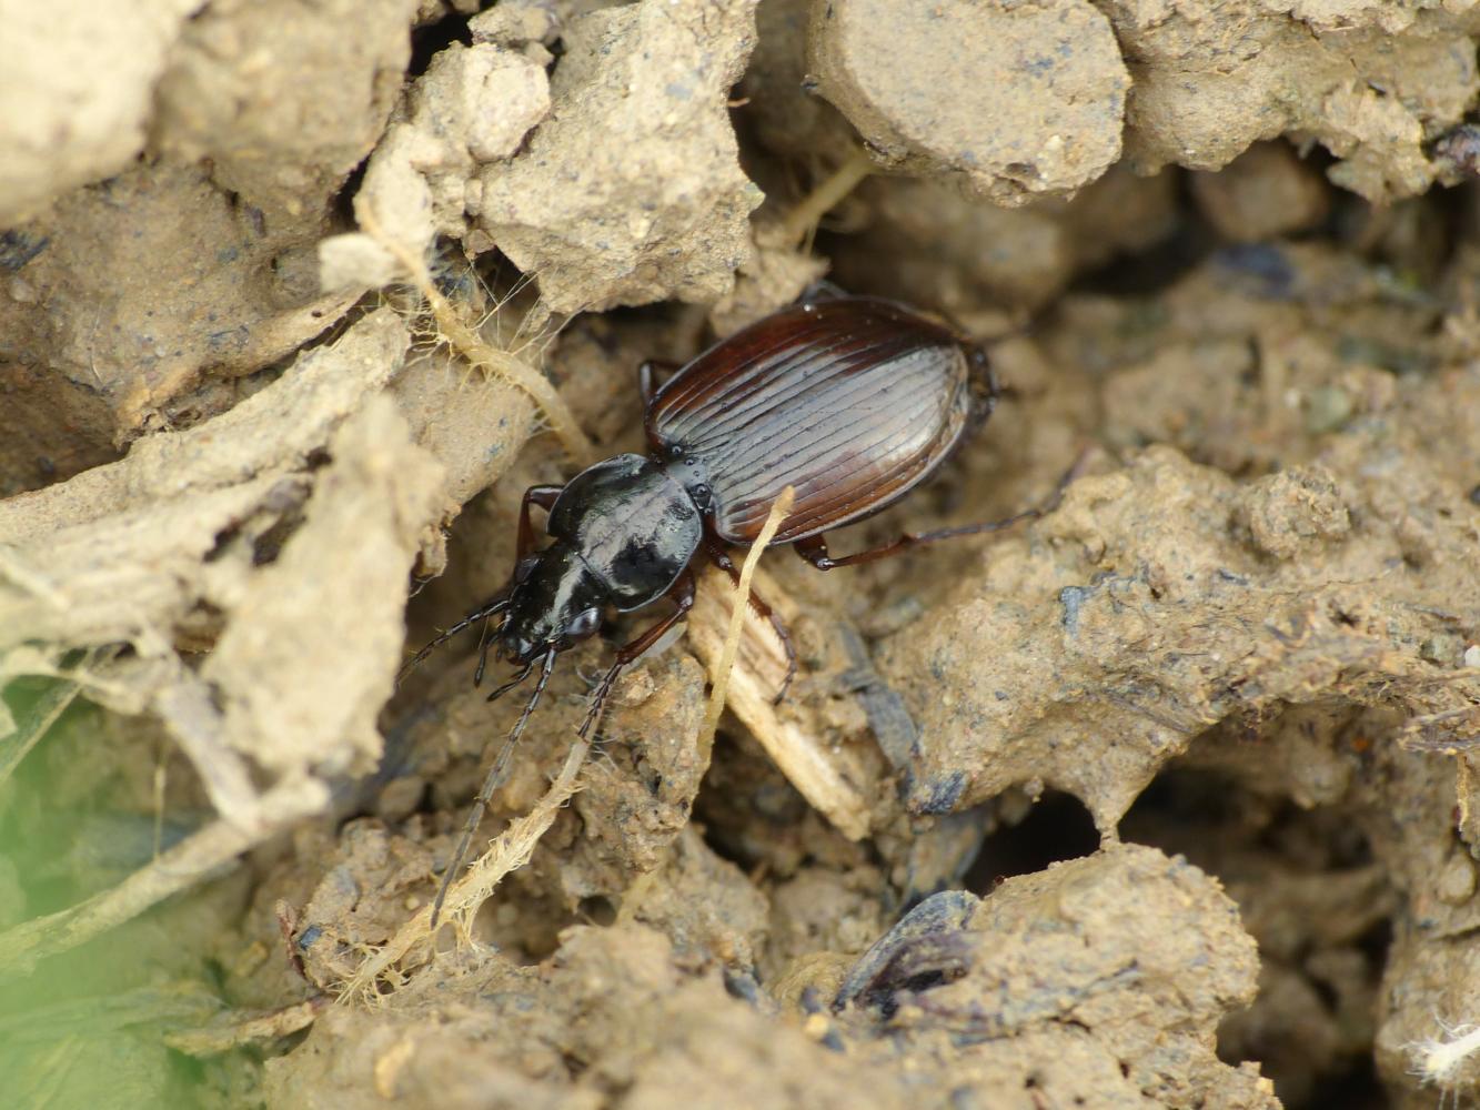
<path fill-rule="evenodd" d="M 1131 80 L 1086 0 L 815 0 L 808 62 L 887 166 L 999 204 L 1070 194 L 1120 157 Z"/>

